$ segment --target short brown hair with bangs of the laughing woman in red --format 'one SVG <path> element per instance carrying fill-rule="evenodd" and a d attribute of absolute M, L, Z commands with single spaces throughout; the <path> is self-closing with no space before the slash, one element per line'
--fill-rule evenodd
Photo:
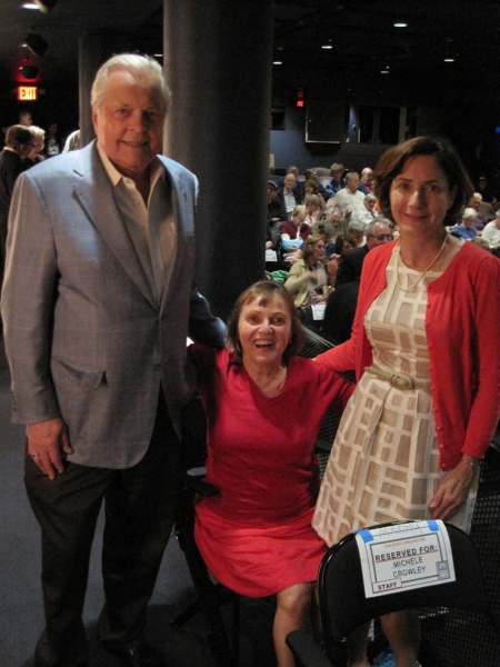
<path fill-rule="evenodd" d="M 244 306 L 250 301 L 259 301 L 259 305 L 267 306 L 269 301 L 276 298 L 283 300 L 291 318 L 291 340 L 283 352 L 283 362 L 288 365 L 290 359 L 297 355 L 303 347 L 306 341 L 306 331 L 299 319 L 298 310 L 292 298 L 280 282 L 274 280 L 259 280 L 248 287 L 234 303 L 228 318 L 228 344 L 227 347 L 232 356 L 233 364 L 239 366 L 243 362 L 243 350 L 238 338 L 238 327 L 240 323 L 240 315 Z"/>

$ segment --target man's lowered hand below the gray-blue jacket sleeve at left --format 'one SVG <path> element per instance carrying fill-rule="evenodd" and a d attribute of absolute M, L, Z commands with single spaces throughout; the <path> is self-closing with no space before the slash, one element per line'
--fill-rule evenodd
<path fill-rule="evenodd" d="M 28 437 L 28 456 L 49 479 L 56 479 L 57 472 L 64 472 L 61 452 L 72 454 L 68 429 L 60 417 L 29 424 L 26 429 Z"/>

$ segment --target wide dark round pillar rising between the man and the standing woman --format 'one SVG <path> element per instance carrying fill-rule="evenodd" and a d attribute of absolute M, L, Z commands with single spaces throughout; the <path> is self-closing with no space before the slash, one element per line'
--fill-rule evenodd
<path fill-rule="evenodd" d="M 164 0 L 164 152 L 199 178 L 198 280 L 223 318 L 264 272 L 272 17 L 270 0 Z"/>

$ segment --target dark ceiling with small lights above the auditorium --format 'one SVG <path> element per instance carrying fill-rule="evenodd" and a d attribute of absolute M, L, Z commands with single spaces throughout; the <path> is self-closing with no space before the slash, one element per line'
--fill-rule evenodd
<path fill-rule="evenodd" d="M 131 49 L 161 53 L 162 6 L 162 0 L 58 0 L 42 13 L 22 9 L 20 0 L 1 0 L 0 80 L 23 80 L 26 64 L 39 69 L 41 83 L 77 80 L 78 40 L 94 31 L 126 32 Z M 282 61 L 273 66 L 276 94 L 302 87 L 311 98 L 384 96 L 388 102 L 396 96 L 398 103 L 402 98 L 421 103 L 423 96 L 427 103 L 500 103 L 498 0 L 276 0 L 274 6 L 274 60 Z M 407 27 L 394 28 L 396 21 Z M 47 42 L 42 58 L 22 46 L 29 32 Z M 444 62 L 446 57 L 454 61 Z"/>

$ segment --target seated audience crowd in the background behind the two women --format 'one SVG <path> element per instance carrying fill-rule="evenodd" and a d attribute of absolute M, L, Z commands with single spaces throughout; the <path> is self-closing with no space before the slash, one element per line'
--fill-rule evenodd
<path fill-rule="evenodd" d="M 452 236 L 500 257 L 500 201 L 486 177 L 477 180 L 468 206 L 453 222 L 448 226 Z M 364 257 L 398 236 L 398 226 L 378 209 L 371 167 L 357 172 L 334 162 L 329 177 L 319 177 L 316 169 L 300 176 L 290 166 L 284 176 L 268 182 L 267 249 L 277 253 L 276 277 L 284 282 L 308 323 L 307 310 L 327 303 L 323 319 L 313 326 L 336 345 L 350 336 Z M 314 249 L 309 262 L 307 247 Z M 267 263 L 269 271 L 273 268 Z"/>

